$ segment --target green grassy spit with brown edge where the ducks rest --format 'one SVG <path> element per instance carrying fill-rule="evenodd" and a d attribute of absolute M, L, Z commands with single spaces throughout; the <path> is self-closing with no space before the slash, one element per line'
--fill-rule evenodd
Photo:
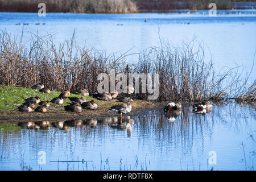
<path fill-rule="evenodd" d="M 38 90 L 31 88 L 23 88 L 16 86 L 4 86 L 0 85 L 0 115 L 1 119 L 39 119 L 39 118 L 81 118 L 81 117 L 93 117 L 93 116 L 106 116 L 106 115 L 119 115 L 117 113 L 108 112 L 111 106 L 122 104 L 118 100 L 101 101 L 90 96 L 80 96 L 77 94 L 71 94 L 70 97 L 85 97 L 86 101 L 94 99 L 98 108 L 96 110 L 84 109 L 81 113 L 73 113 L 64 110 L 64 105 L 69 105 L 71 101 L 68 98 L 64 100 L 63 105 L 50 104 L 47 107 L 47 113 L 38 113 L 33 111 L 32 113 L 18 111 L 18 106 L 24 103 L 24 99 L 28 97 L 38 96 L 41 101 L 51 101 L 52 98 L 58 97 L 61 92 L 52 91 L 51 93 L 42 93 Z M 36 106 L 39 106 L 36 104 Z M 152 102 L 134 100 L 132 102 L 133 111 L 139 111 L 143 109 L 149 109 L 155 107 Z M 133 113 L 133 112 L 132 112 Z"/>

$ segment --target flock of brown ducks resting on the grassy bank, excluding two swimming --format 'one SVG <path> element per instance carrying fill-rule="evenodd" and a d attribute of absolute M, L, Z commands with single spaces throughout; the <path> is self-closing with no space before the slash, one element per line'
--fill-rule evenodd
<path fill-rule="evenodd" d="M 32 89 L 38 89 L 39 92 L 44 93 L 51 93 L 51 90 L 49 88 L 45 88 L 43 84 L 39 83 L 31 87 Z M 134 93 L 134 88 L 131 85 L 127 86 L 127 92 L 128 94 Z M 118 97 L 117 90 L 114 90 L 112 93 L 106 92 L 106 93 L 97 93 L 93 92 L 90 93 L 86 89 L 78 89 L 78 90 L 64 90 L 60 93 L 59 97 L 53 98 L 51 101 L 40 101 L 40 98 L 38 96 L 26 98 L 25 102 L 22 106 L 19 106 L 19 111 L 27 111 L 31 112 L 32 109 L 35 109 L 37 112 L 46 113 L 47 107 L 50 106 L 50 102 L 53 104 L 64 104 L 64 99 L 68 98 L 71 101 L 71 104 L 64 106 L 64 110 L 66 111 L 73 111 L 76 113 L 81 113 L 83 109 L 91 109 L 96 110 L 98 105 L 94 100 L 92 101 L 86 101 L 84 97 L 69 97 L 71 93 L 79 94 L 81 96 L 92 96 L 93 98 L 97 98 L 98 100 L 104 100 L 104 101 L 111 101 L 113 99 L 117 99 L 121 102 L 127 102 L 127 104 L 120 104 L 110 107 L 108 111 L 114 111 L 116 113 L 121 114 L 121 119 L 123 119 L 122 114 L 130 113 L 131 111 L 131 103 L 133 100 L 130 97 L 123 96 Z M 38 107 L 36 107 L 36 104 L 39 104 Z"/>

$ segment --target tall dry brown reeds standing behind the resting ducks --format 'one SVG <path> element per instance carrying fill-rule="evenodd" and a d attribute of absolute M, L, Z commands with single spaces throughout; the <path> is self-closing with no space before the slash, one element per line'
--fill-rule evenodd
<path fill-rule="evenodd" d="M 115 69 L 115 75 L 127 74 L 125 55 L 106 55 L 104 51 L 79 47 L 74 37 L 57 47 L 51 36 L 31 36 L 34 41 L 23 45 L 1 32 L 0 85 L 31 87 L 42 82 L 51 90 L 86 88 L 93 92 L 100 83 L 98 74 L 109 75 L 110 69 Z M 240 96 L 247 99 L 247 93 L 255 98 L 256 82 L 250 84 L 250 88 L 247 82 L 250 73 L 242 78 L 239 67 L 216 72 L 213 61 L 205 61 L 204 55 L 203 45 L 195 40 L 181 47 L 161 40 L 159 47 L 139 53 L 137 63 L 130 64 L 129 73 L 158 73 L 159 97 L 155 101 L 160 102 L 225 100 Z M 133 97 L 146 100 L 148 95 L 148 92 L 142 94 L 140 85 L 139 93 Z"/>

